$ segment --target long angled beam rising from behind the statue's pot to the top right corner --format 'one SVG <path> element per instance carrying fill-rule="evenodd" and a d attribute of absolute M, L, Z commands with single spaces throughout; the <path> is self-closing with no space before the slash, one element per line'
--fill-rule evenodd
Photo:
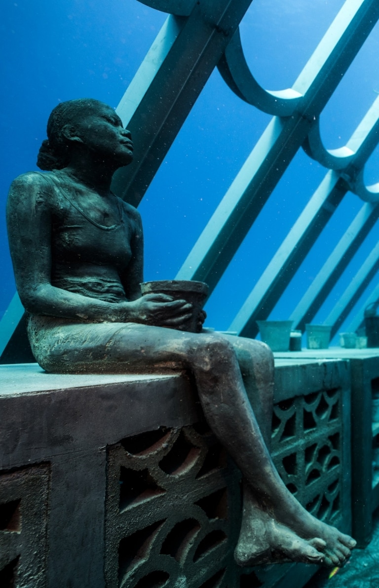
<path fill-rule="evenodd" d="M 177 279 L 203 280 L 212 292 L 378 17 L 378 2 L 347 0 L 293 86 L 303 96 L 297 109 L 271 119 Z"/>

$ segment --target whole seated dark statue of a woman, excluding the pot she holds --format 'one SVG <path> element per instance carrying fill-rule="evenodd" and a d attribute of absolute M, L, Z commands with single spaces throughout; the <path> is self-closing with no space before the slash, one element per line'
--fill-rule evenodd
<path fill-rule="evenodd" d="M 271 461 L 269 348 L 176 330 L 192 316 L 189 303 L 141 296 L 140 216 L 110 192 L 132 152 L 112 108 L 93 99 L 63 102 L 39 152 L 48 173 L 12 183 L 9 243 L 36 360 L 56 373 L 190 370 L 209 426 L 244 476 L 236 562 L 343 565 L 355 541 L 310 515 Z"/>

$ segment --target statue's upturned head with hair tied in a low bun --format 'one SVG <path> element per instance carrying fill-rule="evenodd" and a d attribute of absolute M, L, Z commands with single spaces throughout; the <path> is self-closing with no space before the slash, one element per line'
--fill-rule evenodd
<path fill-rule="evenodd" d="M 85 149 L 117 166 L 133 158 L 130 133 L 113 108 L 93 98 L 60 102 L 52 110 L 47 126 L 48 139 L 39 149 L 37 165 L 51 171 L 69 165 L 72 154 Z"/>

